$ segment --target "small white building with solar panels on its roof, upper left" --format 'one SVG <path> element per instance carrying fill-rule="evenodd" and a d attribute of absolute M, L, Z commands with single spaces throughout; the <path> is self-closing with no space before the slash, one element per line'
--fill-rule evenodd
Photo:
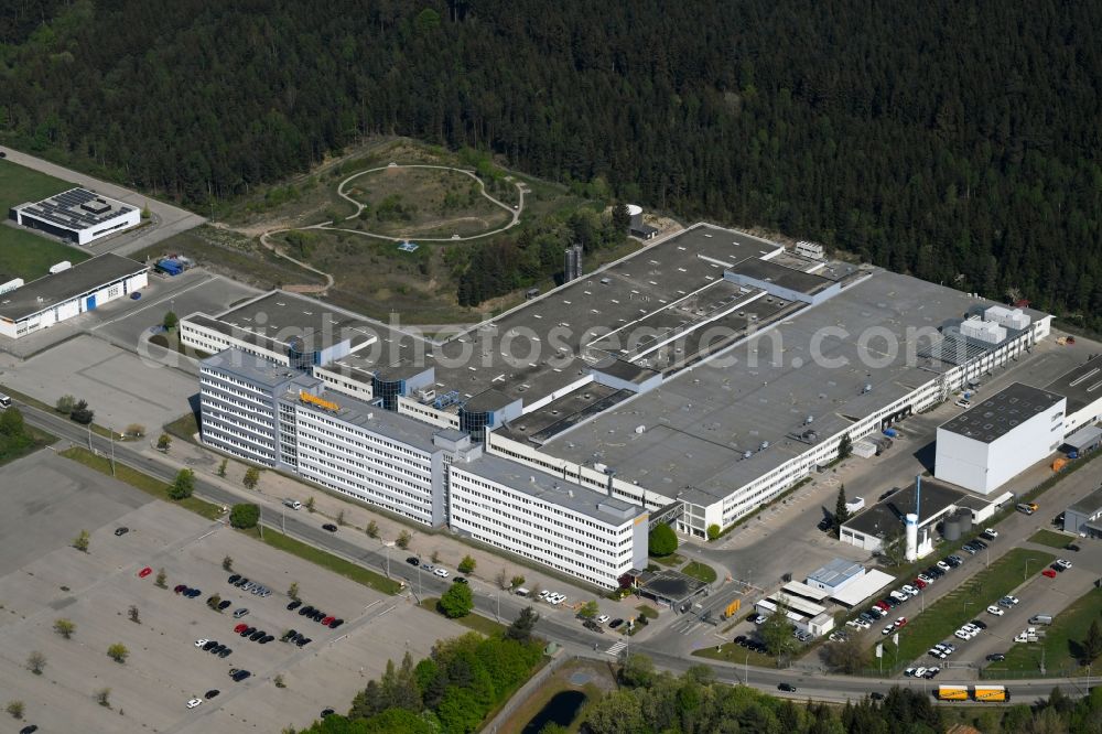
<path fill-rule="evenodd" d="M 101 196 L 87 188 L 69 188 L 9 213 L 17 224 L 39 229 L 77 245 L 88 245 L 141 224 L 138 207 Z"/>

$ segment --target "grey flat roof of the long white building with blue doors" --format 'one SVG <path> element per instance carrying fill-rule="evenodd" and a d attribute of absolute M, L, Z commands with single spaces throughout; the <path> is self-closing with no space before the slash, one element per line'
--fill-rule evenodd
<path fill-rule="evenodd" d="M 0 319 L 22 321 L 60 303 L 90 294 L 104 285 L 144 271 L 145 265 L 114 252 L 43 276 L 0 295 Z"/>

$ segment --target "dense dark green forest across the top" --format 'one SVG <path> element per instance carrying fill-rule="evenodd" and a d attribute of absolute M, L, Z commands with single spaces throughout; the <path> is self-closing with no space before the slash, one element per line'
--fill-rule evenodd
<path fill-rule="evenodd" d="M 4 6 L 0 139 L 192 205 L 408 134 L 1102 328 L 1099 2 Z"/>

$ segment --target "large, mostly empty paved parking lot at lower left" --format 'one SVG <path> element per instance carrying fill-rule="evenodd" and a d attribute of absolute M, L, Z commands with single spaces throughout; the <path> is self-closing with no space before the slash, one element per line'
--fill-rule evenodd
<path fill-rule="evenodd" d="M 41 462 L 43 466 L 25 471 L 37 472 L 43 479 L 53 476 L 54 462 L 66 461 L 40 460 L 42 455 L 24 462 Z M 24 462 L 7 467 L 6 476 L 23 471 Z M 270 733 L 302 727 L 325 706 L 345 710 L 355 693 L 385 669 L 388 658 L 400 659 L 409 649 L 420 659 L 436 639 L 465 632 L 403 597 L 383 596 L 164 503 L 143 501 L 139 495 L 132 508 L 122 501 L 125 497 L 110 497 L 116 488 L 105 490 L 83 482 L 77 486 L 87 486 L 96 499 L 73 503 L 72 486 L 46 487 L 42 504 L 56 508 L 47 527 L 75 518 L 76 525 L 91 531 L 89 552 L 69 548 L 75 532 L 57 529 L 41 541 L 24 539 L 25 563 L 20 568 L 8 563 L 0 578 L 0 690 L 4 700 L 23 701 L 26 722 L 43 732 Z M 105 492 L 107 500 L 101 498 Z M 100 501 L 104 510 L 93 517 L 88 509 Z M 44 510 L 26 505 L 9 504 L 4 521 L 31 525 L 31 518 L 41 519 Z M 116 537 L 119 525 L 130 532 Z M 41 526 L 36 521 L 33 527 Z M 234 559 L 237 572 L 274 593 L 259 598 L 228 585 L 222 569 L 225 555 Z M 154 571 L 165 569 L 168 590 L 154 585 L 155 573 L 138 578 L 147 564 Z M 299 582 L 307 604 L 343 617 L 346 624 L 332 630 L 288 612 L 285 591 L 292 581 Z M 190 600 L 174 594 L 172 587 L 180 583 L 201 589 L 202 595 Z M 233 634 L 237 622 L 228 613 L 205 605 L 215 592 L 233 601 L 231 608 L 247 606 L 250 614 L 244 620 L 250 625 L 277 637 L 298 628 L 314 641 L 300 649 L 278 639 L 263 646 L 242 639 Z M 139 609 L 140 624 L 128 618 L 131 605 Z M 58 617 L 76 624 L 72 639 L 52 630 Z M 204 652 L 194 646 L 201 637 L 228 644 L 234 652 L 226 659 Z M 126 665 L 106 656 L 112 643 L 129 648 Z M 46 658 L 41 676 L 25 668 L 32 651 Z M 252 677 L 236 683 L 227 674 L 230 668 L 248 669 Z M 285 689 L 273 683 L 279 673 Z M 110 709 L 94 700 L 102 688 L 111 689 Z M 185 708 L 188 699 L 208 689 L 222 693 L 197 709 Z"/>

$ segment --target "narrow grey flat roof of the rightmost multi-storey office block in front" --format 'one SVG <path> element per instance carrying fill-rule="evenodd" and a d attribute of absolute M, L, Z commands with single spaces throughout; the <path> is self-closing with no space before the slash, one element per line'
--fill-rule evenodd
<path fill-rule="evenodd" d="M 623 499 L 609 497 L 604 493 L 594 492 L 562 477 L 529 468 L 494 454 L 483 454 L 472 462 L 456 464 L 455 466 L 491 482 L 504 484 L 511 489 L 522 492 L 545 503 L 566 507 L 602 522 L 623 525 L 627 520 L 646 512 L 640 505 L 633 505 Z"/>

